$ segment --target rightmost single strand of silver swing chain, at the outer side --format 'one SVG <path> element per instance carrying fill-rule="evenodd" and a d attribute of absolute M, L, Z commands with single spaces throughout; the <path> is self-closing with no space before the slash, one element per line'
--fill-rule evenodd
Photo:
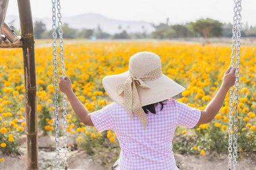
<path fill-rule="evenodd" d="M 241 10 L 242 10 L 241 1 L 242 0 L 238 0 L 238 6 L 237 6 L 237 35 L 236 35 L 237 36 L 236 59 L 237 60 L 236 60 L 236 83 L 235 83 L 236 90 L 234 92 L 234 94 L 236 96 L 236 99 L 234 100 L 235 104 L 236 104 L 236 107 L 234 108 L 235 115 L 234 115 L 234 135 L 233 135 L 233 138 L 234 138 L 234 143 L 233 143 L 233 148 L 234 148 L 234 151 L 233 151 L 233 168 L 234 168 L 234 170 L 236 170 L 236 166 L 237 166 L 237 138 L 238 138 L 238 136 L 237 136 L 237 131 L 238 131 L 237 122 L 238 122 L 238 113 L 239 113 L 238 96 L 239 96 L 240 37 L 241 37 L 241 32 L 240 32 L 241 23 L 240 23 L 240 20 L 242 19 L 242 16 L 241 16 Z"/>

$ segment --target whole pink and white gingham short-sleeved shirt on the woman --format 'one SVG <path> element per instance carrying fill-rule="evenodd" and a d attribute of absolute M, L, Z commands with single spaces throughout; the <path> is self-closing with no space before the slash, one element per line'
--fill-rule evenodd
<path fill-rule="evenodd" d="M 178 169 L 172 152 L 172 139 L 177 126 L 193 128 L 200 118 L 200 110 L 168 99 L 156 107 L 156 114 L 148 113 L 148 125 L 144 130 L 134 114 L 134 120 L 125 108 L 116 103 L 107 105 L 91 114 L 98 131 L 113 130 L 117 135 L 121 153 L 119 169 Z"/>

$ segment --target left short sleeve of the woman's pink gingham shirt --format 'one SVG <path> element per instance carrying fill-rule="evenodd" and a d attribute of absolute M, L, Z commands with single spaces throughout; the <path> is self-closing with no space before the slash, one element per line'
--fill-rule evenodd
<path fill-rule="evenodd" d="M 112 108 L 113 104 L 109 104 L 99 111 L 90 114 L 93 125 L 98 131 L 113 129 Z"/>

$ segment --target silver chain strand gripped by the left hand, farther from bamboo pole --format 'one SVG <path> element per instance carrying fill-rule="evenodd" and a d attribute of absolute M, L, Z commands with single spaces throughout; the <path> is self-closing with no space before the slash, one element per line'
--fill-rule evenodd
<path fill-rule="evenodd" d="M 62 27 L 62 22 L 61 22 L 61 7 L 60 7 L 60 0 L 57 0 L 57 9 L 58 9 L 58 13 L 57 13 L 57 16 L 59 18 L 59 21 L 58 21 L 58 26 L 59 26 L 59 36 L 60 36 L 60 56 L 61 56 L 61 71 L 62 71 L 62 75 L 64 76 L 65 78 L 65 59 L 64 59 L 64 49 L 63 49 L 63 30 L 61 29 Z M 64 138 L 64 167 L 65 169 L 68 168 L 68 162 L 67 162 L 67 151 L 68 151 L 68 141 L 67 141 L 67 137 L 68 137 L 68 134 L 67 134 L 67 104 L 66 104 L 66 101 L 67 101 L 67 97 L 66 95 L 63 93 L 63 117 L 64 117 L 64 120 L 63 120 L 63 124 L 64 124 L 64 128 L 63 128 L 63 131 L 64 131 L 64 135 L 63 135 L 63 138 Z"/>

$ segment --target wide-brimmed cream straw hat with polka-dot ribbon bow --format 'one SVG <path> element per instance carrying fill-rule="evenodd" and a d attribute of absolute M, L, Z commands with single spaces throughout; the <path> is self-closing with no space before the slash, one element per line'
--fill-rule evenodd
<path fill-rule="evenodd" d="M 102 84 L 109 97 L 115 103 L 125 107 L 131 117 L 133 117 L 131 111 L 141 112 L 141 107 L 169 99 L 185 90 L 174 80 L 162 74 L 160 57 L 151 52 L 134 54 L 130 58 L 128 71 L 105 76 Z M 144 120 L 147 119 L 145 115 L 142 116 L 143 118 L 137 115 L 142 124 L 143 121 L 144 124 L 147 122 Z"/>

